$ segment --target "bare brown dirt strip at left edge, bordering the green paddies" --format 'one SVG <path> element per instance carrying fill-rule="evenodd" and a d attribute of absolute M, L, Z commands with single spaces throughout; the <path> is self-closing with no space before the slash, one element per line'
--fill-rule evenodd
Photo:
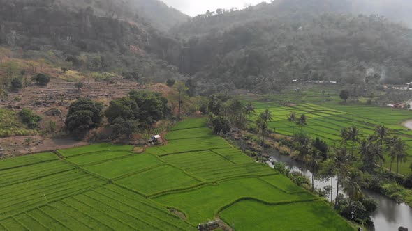
<path fill-rule="evenodd" d="M 73 148 L 87 145 L 84 141 L 73 141 L 69 138 L 43 138 L 41 136 L 13 136 L 0 138 L 0 148 L 7 156 L 20 156 L 33 152 L 46 152 L 57 149 Z"/>

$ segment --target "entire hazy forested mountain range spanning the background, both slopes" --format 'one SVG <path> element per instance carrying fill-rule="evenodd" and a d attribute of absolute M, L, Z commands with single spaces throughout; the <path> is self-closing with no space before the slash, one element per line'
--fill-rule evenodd
<path fill-rule="evenodd" d="M 355 0 L 277 0 L 193 18 L 157 0 L 0 3 L 0 44 L 21 47 L 24 58 L 52 50 L 80 70 L 186 75 L 198 94 L 266 93 L 293 79 L 412 81 L 412 30 L 353 14 Z"/>

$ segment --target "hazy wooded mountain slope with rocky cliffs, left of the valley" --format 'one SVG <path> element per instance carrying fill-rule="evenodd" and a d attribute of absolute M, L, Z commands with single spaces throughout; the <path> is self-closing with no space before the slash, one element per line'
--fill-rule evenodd
<path fill-rule="evenodd" d="M 78 70 L 137 72 L 151 78 L 163 71 L 169 73 L 162 73 L 166 76 L 177 74 L 169 63 L 179 61 L 179 42 L 138 14 L 127 17 L 115 4 L 96 7 L 94 2 L 88 6 L 76 0 L 1 0 L 0 4 L 0 45 L 19 47 L 16 58 L 68 61 Z"/>

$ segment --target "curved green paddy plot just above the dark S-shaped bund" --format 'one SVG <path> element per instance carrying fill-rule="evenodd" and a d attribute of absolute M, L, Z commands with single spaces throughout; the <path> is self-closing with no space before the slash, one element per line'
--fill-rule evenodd
<path fill-rule="evenodd" d="M 309 193 L 288 194 L 258 178 L 244 178 L 203 186 L 186 192 L 170 193 L 154 201 L 177 207 L 186 213 L 193 225 L 211 220 L 218 210 L 238 198 L 258 198 L 268 202 L 308 200 Z M 244 210 L 245 215 L 249 212 Z"/>

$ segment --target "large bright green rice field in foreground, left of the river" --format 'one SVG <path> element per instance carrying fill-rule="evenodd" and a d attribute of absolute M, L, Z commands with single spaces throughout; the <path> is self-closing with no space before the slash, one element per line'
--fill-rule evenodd
<path fill-rule="evenodd" d="M 236 230 L 353 230 L 205 119 L 165 138 L 142 154 L 103 143 L 0 161 L 0 230 L 196 230 L 216 218 Z"/>

